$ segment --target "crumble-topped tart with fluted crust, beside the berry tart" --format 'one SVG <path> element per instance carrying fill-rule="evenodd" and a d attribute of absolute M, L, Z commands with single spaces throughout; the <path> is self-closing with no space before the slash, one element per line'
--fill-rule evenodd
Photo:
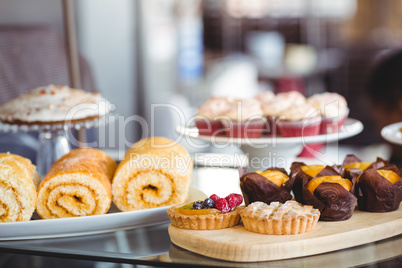
<path fill-rule="evenodd" d="M 244 227 L 261 234 L 288 235 L 310 231 L 320 218 L 320 211 L 289 200 L 281 204 L 254 202 L 240 212 Z"/>

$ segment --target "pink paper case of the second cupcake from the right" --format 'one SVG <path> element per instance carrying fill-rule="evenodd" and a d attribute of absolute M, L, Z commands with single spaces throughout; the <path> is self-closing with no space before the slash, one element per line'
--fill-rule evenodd
<path fill-rule="evenodd" d="M 321 117 L 318 116 L 295 121 L 279 118 L 276 125 L 279 133 L 283 137 L 315 136 L 320 133 Z"/>

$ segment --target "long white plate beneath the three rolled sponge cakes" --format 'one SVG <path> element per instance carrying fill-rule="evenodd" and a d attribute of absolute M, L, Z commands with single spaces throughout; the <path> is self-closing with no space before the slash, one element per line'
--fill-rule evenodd
<path fill-rule="evenodd" d="M 200 190 L 190 187 L 188 201 L 206 197 Z M 166 213 L 169 207 L 121 212 L 112 204 L 105 215 L 3 222 L 0 223 L 0 241 L 90 235 L 156 225 L 170 222 Z"/>

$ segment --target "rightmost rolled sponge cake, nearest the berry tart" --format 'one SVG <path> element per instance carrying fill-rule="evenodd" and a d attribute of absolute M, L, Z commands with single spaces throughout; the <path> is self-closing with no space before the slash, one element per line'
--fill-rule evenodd
<path fill-rule="evenodd" d="M 187 150 L 163 137 L 145 138 L 129 149 L 112 183 L 113 202 L 122 211 L 183 203 L 193 162 Z"/>

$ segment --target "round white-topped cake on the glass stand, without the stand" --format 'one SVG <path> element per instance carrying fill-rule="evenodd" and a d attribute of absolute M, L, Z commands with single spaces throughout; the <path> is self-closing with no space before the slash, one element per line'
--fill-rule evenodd
<path fill-rule="evenodd" d="M 68 86 L 35 88 L 0 106 L 0 120 L 9 124 L 52 124 L 99 118 L 110 112 L 100 93 Z"/>

